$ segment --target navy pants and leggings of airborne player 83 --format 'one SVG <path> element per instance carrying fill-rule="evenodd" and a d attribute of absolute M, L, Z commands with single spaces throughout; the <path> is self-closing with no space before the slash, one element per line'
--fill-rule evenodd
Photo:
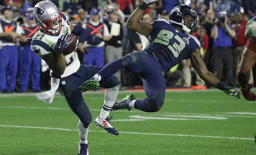
<path fill-rule="evenodd" d="M 164 70 L 159 60 L 145 51 L 132 52 L 120 59 L 109 62 L 98 74 L 101 79 L 105 79 L 121 68 L 138 73 L 143 81 L 144 90 L 148 98 L 144 98 L 144 101 L 142 101 L 145 103 L 145 109 L 140 108 L 140 110 L 144 112 L 158 111 L 161 108 L 160 106 L 163 105 L 166 89 Z M 150 108 L 151 106 L 153 108 Z"/>

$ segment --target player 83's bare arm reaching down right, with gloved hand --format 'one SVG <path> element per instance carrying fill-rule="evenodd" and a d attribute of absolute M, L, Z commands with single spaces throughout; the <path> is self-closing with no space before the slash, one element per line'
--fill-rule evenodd
<path fill-rule="evenodd" d="M 224 91 L 227 95 L 235 96 L 236 98 L 241 98 L 241 94 L 235 88 L 228 87 L 221 83 L 217 77 L 215 77 L 211 72 L 208 71 L 204 61 L 201 58 L 200 49 L 196 49 L 191 57 L 191 64 L 193 68 L 196 70 L 197 74 L 204 81 L 211 83 L 211 85 L 215 86 L 217 89 Z"/>

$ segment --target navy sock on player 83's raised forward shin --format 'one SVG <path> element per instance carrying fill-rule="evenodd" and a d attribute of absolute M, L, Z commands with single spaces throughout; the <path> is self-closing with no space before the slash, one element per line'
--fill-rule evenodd
<path fill-rule="evenodd" d="M 129 63 L 124 63 L 128 61 L 130 62 L 130 59 L 126 60 L 127 58 L 130 58 L 130 57 L 122 57 L 120 59 L 113 60 L 107 63 L 97 74 L 101 76 L 101 79 L 105 79 L 109 76 L 114 75 L 116 72 L 118 72 L 118 70 L 124 68 L 125 64 L 129 64 Z"/>

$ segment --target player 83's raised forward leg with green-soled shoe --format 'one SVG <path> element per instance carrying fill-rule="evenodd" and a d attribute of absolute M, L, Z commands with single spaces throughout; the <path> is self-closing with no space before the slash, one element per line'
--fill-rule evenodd
<path fill-rule="evenodd" d="M 133 72 L 142 72 L 147 63 L 144 63 L 145 57 L 148 54 L 144 51 L 130 53 L 120 59 L 107 63 L 97 74 L 91 79 L 85 81 L 81 87 L 90 90 L 97 90 L 99 88 L 99 81 L 112 76 L 122 68 L 129 68 Z"/>

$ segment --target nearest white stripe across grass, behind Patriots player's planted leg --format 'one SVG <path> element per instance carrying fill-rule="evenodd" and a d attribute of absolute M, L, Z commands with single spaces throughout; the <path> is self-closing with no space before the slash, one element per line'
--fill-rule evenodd
<path fill-rule="evenodd" d="M 18 126 L 18 125 L 0 125 L 0 127 L 78 131 L 78 130 L 75 130 L 75 129 L 63 129 L 63 128 L 51 128 L 51 127 L 30 127 L 30 126 Z M 90 132 L 106 132 L 106 131 L 98 131 L 98 130 L 89 130 L 89 131 Z M 237 140 L 254 140 L 254 138 L 222 137 L 222 136 L 201 136 L 201 135 L 190 135 L 190 134 L 160 134 L 160 133 L 143 133 L 143 132 L 126 132 L 126 131 L 120 131 L 119 133 L 123 133 L 123 134 L 142 134 L 142 135 L 157 135 L 157 136 L 182 136 L 182 137 L 202 137 L 202 138 L 223 138 L 223 139 L 237 139 Z"/>

